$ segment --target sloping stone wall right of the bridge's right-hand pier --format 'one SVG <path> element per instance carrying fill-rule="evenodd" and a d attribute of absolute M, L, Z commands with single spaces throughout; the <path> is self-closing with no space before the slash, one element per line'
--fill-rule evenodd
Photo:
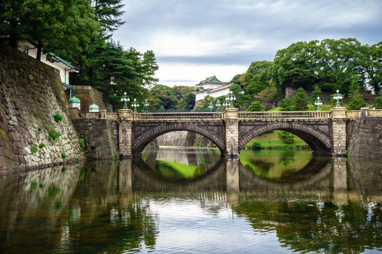
<path fill-rule="evenodd" d="M 350 156 L 382 156 L 382 117 L 358 117 L 349 138 Z"/>

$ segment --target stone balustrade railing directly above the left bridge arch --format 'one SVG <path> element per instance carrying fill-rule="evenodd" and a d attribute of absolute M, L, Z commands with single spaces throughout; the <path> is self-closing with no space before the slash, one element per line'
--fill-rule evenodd
<path fill-rule="evenodd" d="M 189 112 L 189 113 L 133 113 L 133 120 L 221 120 L 225 116 L 224 112 Z"/>

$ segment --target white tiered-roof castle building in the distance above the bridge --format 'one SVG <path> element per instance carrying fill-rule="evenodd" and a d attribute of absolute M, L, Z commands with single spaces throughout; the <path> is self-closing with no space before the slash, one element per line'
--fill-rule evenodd
<path fill-rule="evenodd" d="M 231 85 L 233 85 L 233 83 L 227 84 L 226 82 L 221 82 L 215 77 L 215 75 L 206 78 L 205 80 L 199 82 L 199 84 L 196 84 L 198 90 L 194 93 L 196 97 L 195 100 L 201 101 L 207 95 L 212 96 L 214 98 L 217 98 L 219 96 L 225 96 L 230 92 Z"/>

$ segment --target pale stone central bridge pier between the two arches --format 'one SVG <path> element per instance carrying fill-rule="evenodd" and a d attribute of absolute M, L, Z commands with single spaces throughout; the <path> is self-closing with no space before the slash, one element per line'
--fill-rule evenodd
<path fill-rule="evenodd" d="M 239 156 L 239 117 L 237 108 L 225 109 L 225 156 Z"/>

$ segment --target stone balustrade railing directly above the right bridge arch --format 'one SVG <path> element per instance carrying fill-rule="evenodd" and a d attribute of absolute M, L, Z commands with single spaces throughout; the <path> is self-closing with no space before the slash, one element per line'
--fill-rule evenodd
<path fill-rule="evenodd" d="M 278 112 L 239 112 L 241 119 L 274 119 L 274 118 L 325 118 L 331 117 L 330 111 L 278 111 Z"/>

